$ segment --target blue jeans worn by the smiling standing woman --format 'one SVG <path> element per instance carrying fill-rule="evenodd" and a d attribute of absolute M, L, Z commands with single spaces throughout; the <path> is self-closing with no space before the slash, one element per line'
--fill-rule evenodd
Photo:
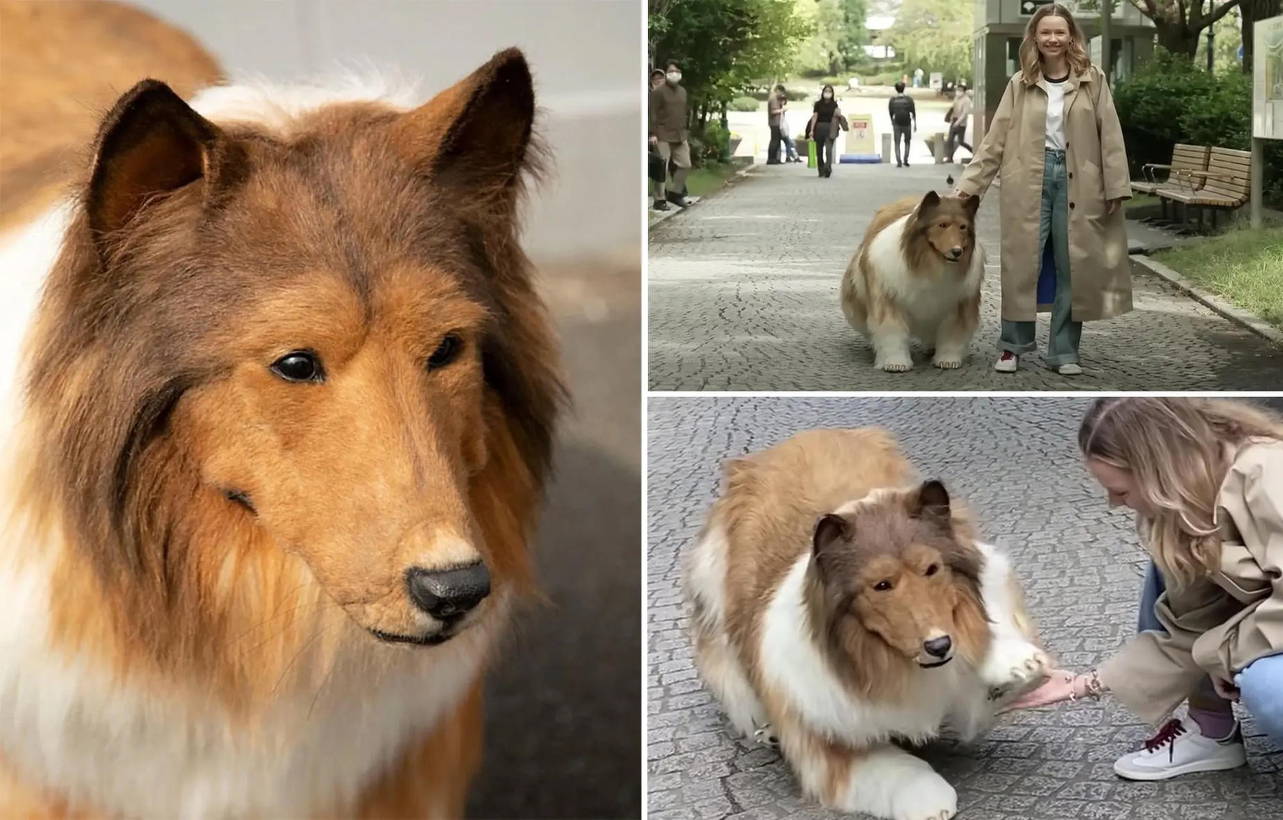
<path fill-rule="evenodd" d="M 1065 182 L 1065 151 L 1046 149 L 1043 159 L 1043 199 L 1038 222 L 1038 259 L 1041 264 L 1051 243 L 1056 261 L 1056 298 L 1051 305 L 1051 335 L 1047 337 L 1047 367 L 1078 363 L 1078 346 L 1083 339 L 1083 323 L 1075 322 L 1074 296 L 1069 286 L 1069 187 Z M 1037 280 L 1037 271 L 1034 278 Z M 1038 322 L 1012 322 L 1002 320 L 998 349 L 1008 353 L 1033 353 L 1038 349 L 1035 331 Z"/>

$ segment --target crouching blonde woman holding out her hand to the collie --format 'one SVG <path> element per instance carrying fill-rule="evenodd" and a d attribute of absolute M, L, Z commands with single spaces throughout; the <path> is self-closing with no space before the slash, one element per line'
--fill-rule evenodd
<path fill-rule="evenodd" d="M 1283 418 L 1214 399 L 1097 399 L 1078 431 L 1153 562 L 1141 631 L 1096 670 L 1052 672 L 1014 708 L 1112 693 L 1162 724 L 1114 764 L 1165 780 L 1247 761 L 1230 701 L 1283 747 Z"/>

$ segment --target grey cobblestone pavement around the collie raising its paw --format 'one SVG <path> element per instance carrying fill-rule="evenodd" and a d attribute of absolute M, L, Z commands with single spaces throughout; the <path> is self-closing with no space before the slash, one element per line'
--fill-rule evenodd
<path fill-rule="evenodd" d="M 1109 509 L 1079 465 L 1084 407 L 1053 397 L 652 397 L 649 819 L 840 816 L 802 801 L 774 751 L 733 739 L 692 665 L 677 554 L 703 524 L 722 459 L 807 427 L 889 427 L 919 470 L 946 481 L 1012 556 L 1058 662 L 1087 669 L 1135 629 L 1143 554 L 1132 518 Z M 921 753 L 957 787 L 958 820 L 1279 820 L 1283 752 L 1250 720 L 1245 731 L 1248 766 L 1165 783 L 1114 775 L 1114 760 L 1147 733 L 1109 697 L 1016 712 L 971 744 L 940 740 Z"/>

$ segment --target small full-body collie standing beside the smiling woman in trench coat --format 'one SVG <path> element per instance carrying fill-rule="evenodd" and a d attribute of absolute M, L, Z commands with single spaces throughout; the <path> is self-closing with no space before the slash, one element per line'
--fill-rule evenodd
<path fill-rule="evenodd" d="M 962 367 L 980 325 L 979 198 L 929 191 L 881 208 L 842 275 L 842 312 L 874 348 L 874 367 L 912 370 L 910 340 L 943 370 Z"/>

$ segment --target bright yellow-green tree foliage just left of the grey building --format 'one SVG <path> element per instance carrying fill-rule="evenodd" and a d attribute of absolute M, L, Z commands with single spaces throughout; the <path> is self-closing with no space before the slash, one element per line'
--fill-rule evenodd
<path fill-rule="evenodd" d="M 905 69 L 971 77 L 974 9 L 957 0 L 905 0 L 890 27 L 890 42 Z"/>

